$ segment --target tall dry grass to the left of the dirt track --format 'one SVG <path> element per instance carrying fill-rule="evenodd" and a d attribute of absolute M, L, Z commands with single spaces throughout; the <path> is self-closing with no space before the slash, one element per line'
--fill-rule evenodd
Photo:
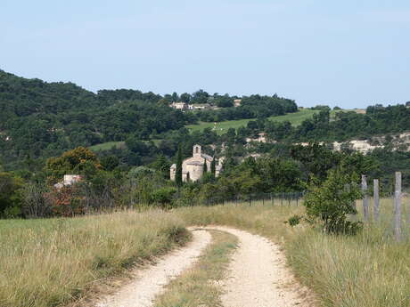
<path fill-rule="evenodd" d="M 160 211 L 0 221 L 0 306 L 63 306 L 103 279 L 182 245 L 184 222 Z"/>

